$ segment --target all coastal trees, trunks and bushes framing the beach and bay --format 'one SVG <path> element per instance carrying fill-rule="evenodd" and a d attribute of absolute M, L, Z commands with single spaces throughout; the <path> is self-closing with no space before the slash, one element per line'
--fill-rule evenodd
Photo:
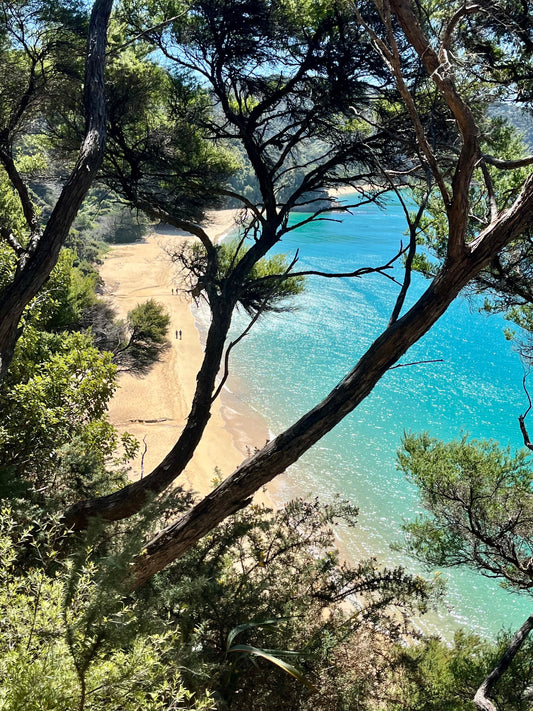
<path fill-rule="evenodd" d="M 333 531 L 356 525 L 354 503 L 251 504 L 461 291 L 504 311 L 530 357 L 533 157 L 494 110 L 531 111 L 527 5 L 17 0 L 0 17 L 0 707 L 530 708 L 533 617 L 492 643 L 426 639 L 411 619 L 438 579 L 342 562 Z M 352 204 L 325 199 L 339 186 Z M 271 254 L 390 191 L 407 240 L 385 264 Z M 205 212 L 229 204 L 239 236 L 216 244 Z M 117 320 L 96 266 L 110 224 L 146 220 L 195 238 L 172 259 L 211 320 L 175 445 L 129 481 L 138 443 L 106 410 L 119 370 L 163 356 L 169 319 L 148 301 Z M 396 264 L 388 324 L 331 393 L 206 497 L 183 491 L 235 310 L 257 327 L 311 273 Z M 413 270 L 429 282 L 407 309 Z M 530 595 L 527 456 L 412 435 L 399 461 L 428 511 L 411 553 Z"/>

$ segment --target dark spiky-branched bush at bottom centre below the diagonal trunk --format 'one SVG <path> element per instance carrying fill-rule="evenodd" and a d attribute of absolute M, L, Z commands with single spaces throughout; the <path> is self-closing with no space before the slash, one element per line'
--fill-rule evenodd
<path fill-rule="evenodd" d="M 341 501 L 296 500 L 274 514 L 251 506 L 154 578 L 146 604 L 179 630 L 176 663 L 190 670 L 189 688 L 210 689 L 220 709 L 235 711 L 357 708 L 383 666 L 369 636 L 397 639 L 403 618 L 391 609 L 425 608 L 431 591 L 375 560 L 341 563 L 333 527 L 353 525 L 355 515 Z"/>

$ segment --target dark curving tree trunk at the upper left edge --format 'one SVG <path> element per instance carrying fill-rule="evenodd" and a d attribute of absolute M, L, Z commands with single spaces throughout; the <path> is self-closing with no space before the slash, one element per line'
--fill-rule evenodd
<path fill-rule="evenodd" d="M 113 0 L 95 0 L 85 63 L 85 136 L 78 159 L 42 235 L 30 240 L 12 282 L 0 293 L 0 379 L 13 358 L 22 313 L 57 263 L 76 214 L 98 170 L 105 145 L 104 65 Z M 33 232 L 33 225 L 29 225 Z M 35 234 L 32 234 L 32 238 Z"/>

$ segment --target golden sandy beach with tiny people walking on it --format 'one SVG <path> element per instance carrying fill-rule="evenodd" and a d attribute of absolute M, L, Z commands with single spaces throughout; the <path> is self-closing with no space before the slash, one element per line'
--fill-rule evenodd
<path fill-rule="evenodd" d="M 229 232 L 235 215 L 234 210 L 209 213 L 209 236 L 216 240 Z M 171 319 L 170 348 L 163 360 L 143 378 L 120 375 L 109 406 L 111 422 L 141 444 L 132 463 L 132 478 L 148 474 L 176 442 L 189 413 L 203 357 L 191 310 L 194 305 L 180 293 L 178 276 L 167 253 L 185 239 L 194 238 L 155 229 L 142 242 L 111 247 L 100 269 L 105 297 L 121 318 L 137 304 L 153 298 L 165 306 Z M 267 436 L 266 425 L 257 413 L 236 402 L 230 392 L 222 393 L 180 484 L 207 493 L 219 472 L 223 477 L 230 474 L 253 448 L 265 443 Z M 270 503 L 264 493 L 262 499 Z"/>

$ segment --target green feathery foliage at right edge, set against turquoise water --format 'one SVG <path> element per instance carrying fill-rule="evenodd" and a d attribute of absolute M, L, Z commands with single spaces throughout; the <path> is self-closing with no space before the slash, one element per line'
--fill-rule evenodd
<path fill-rule="evenodd" d="M 432 567 L 467 565 L 515 590 L 533 589 L 533 469 L 525 451 L 490 441 L 408 435 L 398 454 L 428 514 L 404 528 Z"/>

